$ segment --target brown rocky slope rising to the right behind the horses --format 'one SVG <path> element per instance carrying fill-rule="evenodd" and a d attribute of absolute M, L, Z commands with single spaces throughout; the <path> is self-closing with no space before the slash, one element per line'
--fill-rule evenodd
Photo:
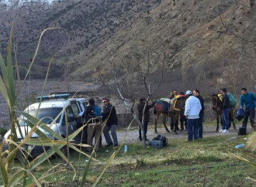
<path fill-rule="evenodd" d="M 87 63 L 81 64 L 74 77 L 105 62 L 111 53 L 119 59 L 123 54 L 132 56 L 142 41 L 154 39 L 155 50 L 168 66 L 170 82 L 214 89 L 244 80 L 255 83 L 255 10 L 248 1 L 176 1 L 175 5 L 164 1 L 106 41 L 85 59 Z"/>

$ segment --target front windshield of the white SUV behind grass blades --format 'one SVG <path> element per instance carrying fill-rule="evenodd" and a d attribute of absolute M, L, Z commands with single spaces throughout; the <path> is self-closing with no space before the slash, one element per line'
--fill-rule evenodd
<path fill-rule="evenodd" d="M 24 112 L 29 113 L 33 117 L 36 117 L 37 119 L 42 119 L 42 122 L 45 124 L 50 124 L 58 114 L 61 113 L 61 110 L 63 110 L 62 107 L 49 107 L 49 108 L 40 108 L 38 116 L 36 117 L 37 109 L 35 110 L 24 110 Z M 56 123 L 59 123 L 61 120 L 61 115 L 57 118 Z M 26 125 L 26 117 L 23 117 L 23 115 L 19 116 L 19 125 L 25 126 Z"/>

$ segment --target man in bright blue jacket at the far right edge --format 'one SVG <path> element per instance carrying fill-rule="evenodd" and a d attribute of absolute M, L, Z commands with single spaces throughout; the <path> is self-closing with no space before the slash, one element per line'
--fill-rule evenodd
<path fill-rule="evenodd" d="M 246 128 L 248 117 L 250 117 L 251 128 L 253 128 L 255 130 L 254 116 L 255 116 L 256 97 L 255 97 L 254 93 L 247 92 L 247 89 L 245 87 L 241 88 L 241 93 L 242 93 L 242 95 L 240 96 L 240 108 L 243 108 L 245 105 L 245 115 L 244 115 L 243 127 Z"/>

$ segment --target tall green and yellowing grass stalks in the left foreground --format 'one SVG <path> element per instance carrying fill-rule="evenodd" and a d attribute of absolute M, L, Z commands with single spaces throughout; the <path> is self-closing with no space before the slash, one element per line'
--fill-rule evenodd
<path fill-rule="evenodd" d="M 63 155 L 60 151 L 60 148 L 63 146 L 69 146 L 71 148 L 77 149 L 74 147 L 74 145 L 71 145 L 71 143 L 68 140 L 73 139 L 81 130 L 82 128 L 79 128 L 77 131 L 75 131 L 73 134 L 68 136 L 67 138 L 62 138 L 61 135 L 55 134 L 54 131 L 52 131 L 47 124 L 43 124 L 40 120 L 36 119 L 36 117 L 32 117 L 29 114 L 26 114 L 24 112 L 19 112 L 16 110 L 17 108 L 17 103 L 16 103 L 16 98 L 18 97 L 19 93 L 21 94 L 21 89 L 22 85 L 26 80 L 26 77 L 29 75 L 29 72 L 31 70 L 31 66 L 33 65 L 34 59 L 36 58 L 36 54 L 38 52 L 39 46 L 40 46 L 40 41 L 42 39 L 43 33 L 46 32 L 47 30 L 50 29 L 60 29 L 60 28 L 48 28 L 44 29 L 43 32 L 40 35 L 40 39 L 38 42 L 38 45 L 36 47 L 36 53 L 33 56 L 33 60 L 29 65 L 29 69 L 26 73 L 25 79 L 22 81 L 20 84 L 20 79 L 19 79 L 19 66 L 16 60 L 16 74 L 17 74 L 17 80 L 19 83 L 19 89 L 16 93 L 16 85 L 15 85 L 15 74 L 12 70 L 12 29 L 13 29 L 13 24 L 10 30 L 10 36 L 9 36 L 9 42 L 8 42 L 8 48 L 7 48 L 7 60 L 6 60 L 6 66 L 4 59 L 2 58 L 2 55 L 0 54 L 0 67 L 1 67 L 1 73 L 2 76 L 0 76 L 0 91 L 2 93 L 2 96 L 4 97 L 6 104 L 8 105 L 9 108 L 9 117 L 10 117 L 10 128 L 11 128 L 11 135 L 7 139 L 7 142 L 9 143 L 9 150 L 2 152 L 2 148 L 5 145 L 5 142 L 2 143 L 0 146 L 0 154 L 1 159 L 0 161 L 0 169 L 1 169 L 1 176 L 2 176 L 2 181 L 4 182 L 4 186 L 14 186 L 17 184 L 21 184 L 20 182 L 22 181 L 22 185 L 27 185 L 26 184 L 26 179 L 27 179 L 27 174 L 31 176 L 33 179 L 33 184 L 32 185 L 38 185 L 40 186 L 39 180 L 37 180 L 33 176 L 33 169 L 36 168 L 38 165 L 43 163 L 44 161 L 48 160 L 51 155 L 54 155 L 55 152 L 57 152 L 58 155 L 61 155 L 61 158 L 63 158 L 65 161 L 68 162 L 68 159 L 66 158 L 65 155 Z M 16 56 L 16 54 L 15 54 Z M 50 64 L 52 60 L 54 59 L 54 56 L 50 59 L 50 63 L 47 69 L 47 75 L 44 80 L 43 84 L 43 90 L 44 87 L 46 86 L 47 83 L 47 76 L 50 70 Z M 42 91 L 43 94 L 43 91 Z M 20 96 L 22 97 L 22 96 Z M 19 127 L 19 122 L 16 117 L 16 112 L 19 112 L 19 114 L 22 114 L 24 117 L 26 117 L 26 123 L 28 124 L 30 131 L 26 131 L 26 136 L 22 137 L 22 141 L 18 142 L 17 138 L 17 133 L 16 133 L 16 126 L 21 132 L 21 129 Z M 60 115 L 60 114 L 59 114 Z M 57 119 L 54 119 L 56 121 Z M 53 123 L 54 123 L 53 121 Z M 66 124 L 67 125 L 67 124 Z M 39 128 L 42 128 L 44 131 L 50 132 L 51 135 L 53 135 L 55 138 L 57 137 L 57 141 L 50 140 L 46 137 L 45 134 L 43 134 L 42 131 L 39 130 Z M 29 130 L 27 128 L 27 130 Z M 31 135 L 35 133 L 39 135 L 39 138 L 33 138 L 30 139 Z M 22 133 L 20 133 L 22 134 Z M 66 141 L 67 140 L 67 141 Z M 27 150 L 26 146 L 25 149 L 23 148 L 24 145 L 43 145 L 43 146 L 50 146 L 50 149 L 47 151 L 44 151 L 44 153 L 37 158 L 35 158 L 32 162 L 29 162 L 27 160 L 27 157 L 29 156 L 29 151 Z M 24 151 L 24 153 L 23 153 Z M 77 150 L 79 151 L 79 150 Z M 24 155 L 25 154 L 25 155 Z M 84 153 L 84 155 L 86 155 Z M 23 165 L 24 168 L 13 168 L 14 165 L 14 159 L 18 158 L 19 162 Z M 74 166 L 71 165 L 71 167 L 74 170 Z M 54 167 L 51 165 L 50 171 L 54 171 Z M 43 174 L 40 177 L 41 179 L 44 179 L 46 174 Z"/>

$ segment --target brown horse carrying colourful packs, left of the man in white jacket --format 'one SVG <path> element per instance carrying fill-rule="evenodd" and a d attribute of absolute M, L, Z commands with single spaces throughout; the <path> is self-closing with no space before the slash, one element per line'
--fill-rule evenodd
<path fill-rule="evenodd" d="M 185 100 L 186 97 L 179 97 L 175 103 L 173 104 L 173 106 L 170 107 L 170 114 L 171 117 L 174 118 L 175 121 L 175 127 L 178 127 L 178 117 L 180 116 L 180 114 L 182 113 L 182 110 L 184 110 L 185 108 Z M 154 107 L 154 132 L 157 134 L 157 121 L 159 120 L 160 115 L 162 114 L 162 118 L 163 118 L 163 124 L 164 124 L 164 128 L 166 131 L 170 132 L 166 126 L 166 118 L 169 117 L 169 112 L 168 111 L 162 111 L 162 110 L 157 110 L 156 107 Z M 175 131 L 175 134 L 177 134 L 177 131 Z"/>

